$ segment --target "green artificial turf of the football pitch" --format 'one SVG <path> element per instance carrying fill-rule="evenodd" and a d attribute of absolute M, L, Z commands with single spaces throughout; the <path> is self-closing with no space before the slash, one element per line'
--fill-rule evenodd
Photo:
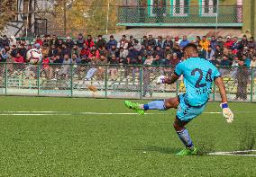
<path fill-rule="evenodd" d="M 133 111 L 122 100 L 86 98 L 1 97 L 0 103 L 0 176 L 256 176 L 256 156 L 175 155 L 183 146 L 172 127 L 174 110 L 90 115 L 81 112 Z M 187 125 L 202 154 L 256 149 L 256 104 L 230 107 L 232 124 L 205 113 Z M 206 112 L 216 111 L 219 103 L 209 102 Z"/>

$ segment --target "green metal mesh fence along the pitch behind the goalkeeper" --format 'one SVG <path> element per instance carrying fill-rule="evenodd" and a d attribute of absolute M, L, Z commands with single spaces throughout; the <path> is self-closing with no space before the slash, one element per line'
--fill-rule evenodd
<path fill-rule="evenodd" d="M 183 79 L 156 84 L 173 66 L 0 64 L 0 94 L 96 98 L 164 99 L 185 93 Z M 256 68 L 219 67 L 229 101 L 256 102 Z M 96 92 L 89 87 L 96 88 Z M 220 101 L 215 84 L 210 100 Z"/>

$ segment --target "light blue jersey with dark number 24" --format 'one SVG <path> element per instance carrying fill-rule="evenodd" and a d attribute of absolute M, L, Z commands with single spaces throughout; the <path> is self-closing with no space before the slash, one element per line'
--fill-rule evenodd
<path fill-rule="evenodd" d="M 205 104 L 209 99 L 213 81 L 221 76 L 218 69 L 204 58 L 187 58 L 176 66 L 175 73 L 184 77 L 184 99 L 191 106 Z"/>

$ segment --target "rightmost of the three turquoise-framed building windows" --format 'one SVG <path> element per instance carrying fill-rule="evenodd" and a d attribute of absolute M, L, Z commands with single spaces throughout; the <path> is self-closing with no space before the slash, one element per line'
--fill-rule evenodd
<path fill-rule="evenodd" d="M 201 16 L 216 16 L 218 0 L 200 0 Z"/>

